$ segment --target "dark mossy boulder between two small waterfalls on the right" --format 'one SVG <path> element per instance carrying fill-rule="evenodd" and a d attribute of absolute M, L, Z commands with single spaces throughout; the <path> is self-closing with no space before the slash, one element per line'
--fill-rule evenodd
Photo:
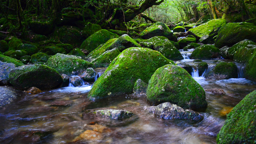
<path fill-rule="evenodd" d="M 218 63 L 212 72 L 207 74 L 206 78 L 213 79 L 229 79 L 237 78 L 237 66 L 233 62 L 220 62 Z"/>

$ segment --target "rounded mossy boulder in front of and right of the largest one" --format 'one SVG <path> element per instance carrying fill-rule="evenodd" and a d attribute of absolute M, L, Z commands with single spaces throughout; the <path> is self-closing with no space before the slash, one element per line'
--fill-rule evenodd
<path fill-rule="evenodd" d="M 192 110 L 207 107 L 204 89 L 176 65 L 165 65 L 155 71 L 149 80 L 146 98 L 154 105 L 170 102 Z"/>

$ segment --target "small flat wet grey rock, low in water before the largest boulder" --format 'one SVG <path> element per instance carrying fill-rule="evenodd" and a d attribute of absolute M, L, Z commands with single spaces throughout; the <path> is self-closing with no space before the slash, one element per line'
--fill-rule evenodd
<path fill-rule="evenodd" d="M 132 112 L 128 112 L 126 110 L 118 110 L 118 109 L 95 110 L 92 113 L 99 116 L 108 117 L 111 119 L 124 119 L 124 118 L 129 118 L 133 115 Z"/>

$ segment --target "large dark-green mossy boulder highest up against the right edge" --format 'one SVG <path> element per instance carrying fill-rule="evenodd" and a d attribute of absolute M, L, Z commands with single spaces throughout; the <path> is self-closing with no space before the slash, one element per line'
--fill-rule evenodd
<path fill-rule="evenodd" d="M 215 46 L 218 48 L 224 46 L 231 47 L 245 39 L 256 42 L 256 26 L 254 24 L 247 22 L 228 23 L 221 27 L 215 41 Z"/>

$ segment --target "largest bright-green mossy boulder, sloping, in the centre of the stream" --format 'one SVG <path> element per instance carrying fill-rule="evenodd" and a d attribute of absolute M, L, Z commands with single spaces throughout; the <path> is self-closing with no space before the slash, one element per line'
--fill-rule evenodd
<path fill-rule="evenodd" d="M 88 97 L 99 99 L 132 93 L 137 79 L 148 82 L 155 70 L 173 61 L 148 48 L 131 47 L 120 53 L 93 84 Z"/>

